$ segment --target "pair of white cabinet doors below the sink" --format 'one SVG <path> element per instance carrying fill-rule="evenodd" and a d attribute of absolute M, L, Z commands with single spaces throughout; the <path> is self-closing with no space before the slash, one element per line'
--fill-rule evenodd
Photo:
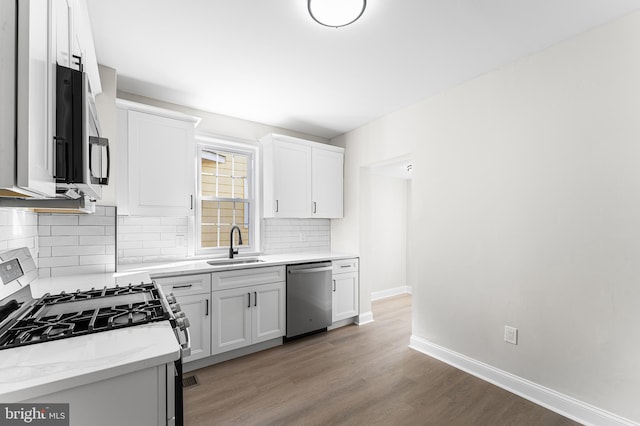
<path fill-rule="evenodd" d="M 214 291 L 211 353 L 284 336 L 285 288 L 276 282 Z"/>

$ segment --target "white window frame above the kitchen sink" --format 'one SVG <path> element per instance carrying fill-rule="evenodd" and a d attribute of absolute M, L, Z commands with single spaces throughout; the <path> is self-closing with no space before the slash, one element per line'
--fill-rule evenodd
<path fill-rule="evenodd" d="M 247 189 L 246 198 L 249 208 L 249 241 L 250 244 L 240 246 L 240 254 L 256 254 L 260 250 L 260 217 L 259 217 L 259 145 L 257 142 L 236 139 L 225 136 L 196 134 L 196 200 L 195 200 L 195 229 L 194 249 L 196 255 L 228 255 L 229 246 L 202 247 L 202 151 L 218 150 L 235 154 L 247 155 Z M 246 212 L 245 212 L 246 213 Z"/>

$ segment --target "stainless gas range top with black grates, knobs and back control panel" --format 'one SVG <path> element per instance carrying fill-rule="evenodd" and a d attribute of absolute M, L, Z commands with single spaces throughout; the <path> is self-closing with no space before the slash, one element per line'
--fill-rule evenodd
<path fill-rule="evenodd" d="M 28 249 L 0 253 L 0 350 L 170 321 L 183 356 L 188 355 L 189 322 L 175 298 L 165 296 L 155 283 L 45 294 L 33 299 L 29 284 L 37 278 L 34 270 Z"/>

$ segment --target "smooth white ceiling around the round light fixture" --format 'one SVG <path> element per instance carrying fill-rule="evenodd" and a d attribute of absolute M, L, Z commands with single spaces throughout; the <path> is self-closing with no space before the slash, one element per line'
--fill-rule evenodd
<path fill-rule="evenodd" d="M 640 9 L 640 0 L 87 0 L 118 90 L 332 138 Z"/>

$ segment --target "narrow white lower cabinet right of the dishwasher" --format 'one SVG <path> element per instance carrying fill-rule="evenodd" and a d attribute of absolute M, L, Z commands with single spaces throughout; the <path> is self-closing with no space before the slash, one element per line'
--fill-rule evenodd
<path fill-rule="evenodd" d="M 332 321 L 357 316 L 359 311 L 358 259 L 334 260 Z"/>

